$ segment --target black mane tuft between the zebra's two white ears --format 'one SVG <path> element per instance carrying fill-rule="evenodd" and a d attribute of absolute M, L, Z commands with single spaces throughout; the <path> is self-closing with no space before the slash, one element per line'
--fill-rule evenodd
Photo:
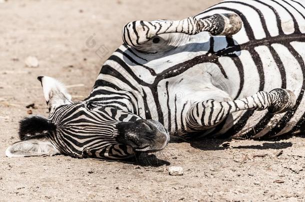
<path fill-rule="evenodd" d="M 56 125 L 42 116 L 26 117 L 19 122 L 20 140 L 46 136 L 56 130 Z"/>

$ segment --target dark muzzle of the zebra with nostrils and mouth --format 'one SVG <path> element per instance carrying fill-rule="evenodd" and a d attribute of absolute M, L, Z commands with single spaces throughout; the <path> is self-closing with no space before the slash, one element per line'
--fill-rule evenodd
<path fill-rule="evenodd" d="M 131 146 L 135 152 L 157 152 L 169 142 L 169 133 L 164 126 L 154 120 L 140 119 L 120 122 L 116 125 L 116 141 Z"/>

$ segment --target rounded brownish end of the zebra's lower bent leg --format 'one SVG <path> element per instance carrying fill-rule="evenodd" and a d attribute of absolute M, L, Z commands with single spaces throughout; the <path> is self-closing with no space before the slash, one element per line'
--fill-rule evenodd
<path fill-rule="evenodd" d="M 292 91 L 287 89 L 276 88 L 270 91 L 270 93 L 275 94 L 275 98 L 270 107 L 268 107 L 268 112 L 271 114 L 280 114 L 286 112 L 295 105 L 295 95 Z"/>

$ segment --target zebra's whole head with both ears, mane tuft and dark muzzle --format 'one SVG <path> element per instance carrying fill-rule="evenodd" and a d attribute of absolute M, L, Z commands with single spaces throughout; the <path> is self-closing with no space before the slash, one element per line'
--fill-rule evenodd
<path fill-rule="evenodd" d="M 157 121 L 144 120 L 115 104 L 94 101 L 73 103 L 63 84 L 51 77 L 38 77 L 49 115 L 20 121 L 21 141 L 7 148 L 6 156 L 52 156 L 123 159 L 135 152 L 162 150 L 169 141 Z"/>

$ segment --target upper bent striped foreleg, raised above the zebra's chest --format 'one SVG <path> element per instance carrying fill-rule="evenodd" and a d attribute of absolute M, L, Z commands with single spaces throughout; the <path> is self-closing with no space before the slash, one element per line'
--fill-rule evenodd
<path fill-rule="evenodd" d="M 164 33 L 194 35 L 208 31 L 212 35 L 233 35 L 241 29 L 241 18 L 234 13 L 214 14 L 206 18 L 188 17 L 182 20 L 132 21 L 122 30 L 125 44 L 139 47 L 154 36 Z"/>

